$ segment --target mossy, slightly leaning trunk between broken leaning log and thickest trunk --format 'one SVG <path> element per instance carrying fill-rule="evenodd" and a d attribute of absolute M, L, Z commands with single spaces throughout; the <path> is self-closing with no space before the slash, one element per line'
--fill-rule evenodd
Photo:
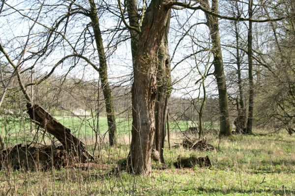
<path fill-rule="evenodd" d="M 105 55 L 105 51 L 103 48 L 103 41 L 101 36 L 101 31 L 99 28 L 99 20 L 97 16 L 97 8 L 94 0 L 89 0 L 90 4 L 90 19 L 91 26 L 93 28 L 96 48 L 99 57 L 99 77 L 101 81 L 101 88 L 104 95 L 106 112 L 107 112 L 107 120 L 108 120 L 108 128 L 109 128 L 109 141 L 110 146 L 117 145 L 117 127 L 116 127 L 116 119 L 114 112 L 114 100 L 112 95 L 112 90 L 110 88 L 109 80 L 108 80 L 108 68 L 107 68 L 107 59 Z"/>

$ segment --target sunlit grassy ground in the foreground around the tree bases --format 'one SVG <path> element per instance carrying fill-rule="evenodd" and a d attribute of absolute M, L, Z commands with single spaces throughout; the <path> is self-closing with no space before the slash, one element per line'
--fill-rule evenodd
<path fill-rule="evenodd" d="M 125 135 L 120 136 L 127 137 Z M 172 141 L 179 142 L 176 134 Z M 111 168 L 128 154 L 128 145 L 103 147 L 104 166 L 60 171 L 0 171 L 0 195 L 295 195 L 295 137 L 285 132 L 271 136 L 235 136 L 221 140 L 207 135 L 213 152 L 165 148 L 165 167 L 153 163 L 151 177 L 126 172 L 113 176 Z M 121 140 L 122 141 L 122 140 Z M 176 169 L 177 156 L 208 155 L 210 169 Z M 91 167 L 90 167 L 91 166 Z"/>

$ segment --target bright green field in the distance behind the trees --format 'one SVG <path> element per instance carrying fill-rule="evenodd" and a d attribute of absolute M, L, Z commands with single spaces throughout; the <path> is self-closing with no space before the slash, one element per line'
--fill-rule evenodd
<path fill-rule="evenodd" d="M 97 126 L 97 120 L 93 120 L 91 117 L 75 117 L 75 116 L 56 116 L 60 123 L 69 128 L 71 132 L 78 138 L 90 138 L 95 135 Z M 128 134 L 131 131 L 132 120 L 129 122 L 124 118 L 117 118 L 117 131 L 118 135 Z M 35 129 L 37 125 L 32 124 Z M 204 123 L 210 128 L 210 123 Z M 170 131 L 177 132 L 179 130 L 186 130 L 188 127 L 195 127 L 198 124 L 194 124 L 191 121 L 170 121 Z M 213 128 L 217 128 L 217 124 L 214 124 Z M 99 117 L 99 133 L 105 134 L 108 131 L 108 124 L 106 117 Z M 24 141 L 30 140 L 34 137 L 34 132 L 30 133 L 30 119 L 29 117 L 1 117 L 0 118 L 0 135 L 5 140 L 9 141 Z M 16 142 L 16 143 L 17 143 Z M 13 142 L 12 142 L 13 143 Z"/>

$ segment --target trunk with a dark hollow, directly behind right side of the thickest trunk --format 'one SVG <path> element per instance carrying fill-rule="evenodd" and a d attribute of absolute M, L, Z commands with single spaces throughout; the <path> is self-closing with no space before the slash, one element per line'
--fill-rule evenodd
<path fill-rule="evenodd" d="M 159 54 L 158 54 L 158 70 L 157 70 L 157 98 L 155 106 L 155 136 L 153 148 L 159 152 L 160 161 L 165 162 L 163 149 L 166 137 L 166 120 L 168 112 L 168 102 L 171 94 L 171 70 L 170 55 L 168 49 L 168 33 L 170 25 L 171 11 L 165 25 L 165 34 L 163 36 Z"/>

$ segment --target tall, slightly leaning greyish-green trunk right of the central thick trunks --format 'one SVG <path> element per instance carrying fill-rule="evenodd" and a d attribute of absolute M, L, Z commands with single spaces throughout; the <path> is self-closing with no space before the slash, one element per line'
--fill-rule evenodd
<path fill-rule="evenodd" d="M 208 0 L 201 0 L 200 3 L 208 10 L 212 10 L 213 12 L 218 13 L 218 0 L 212 0 L 212 8 L 210 8 Z M 205 15 L 207 19 L 207 26 L 209 28 L 210 36 L 212 39 L 212 48 L 214 56 L 213 65 L 215 69 L 214 76 L 217 81 L 220 110 L 220 135 L 232 136 L 231 123 L 229 120 L 228 94 L 220 45 L 218 18 L 209 14 Z"/>

